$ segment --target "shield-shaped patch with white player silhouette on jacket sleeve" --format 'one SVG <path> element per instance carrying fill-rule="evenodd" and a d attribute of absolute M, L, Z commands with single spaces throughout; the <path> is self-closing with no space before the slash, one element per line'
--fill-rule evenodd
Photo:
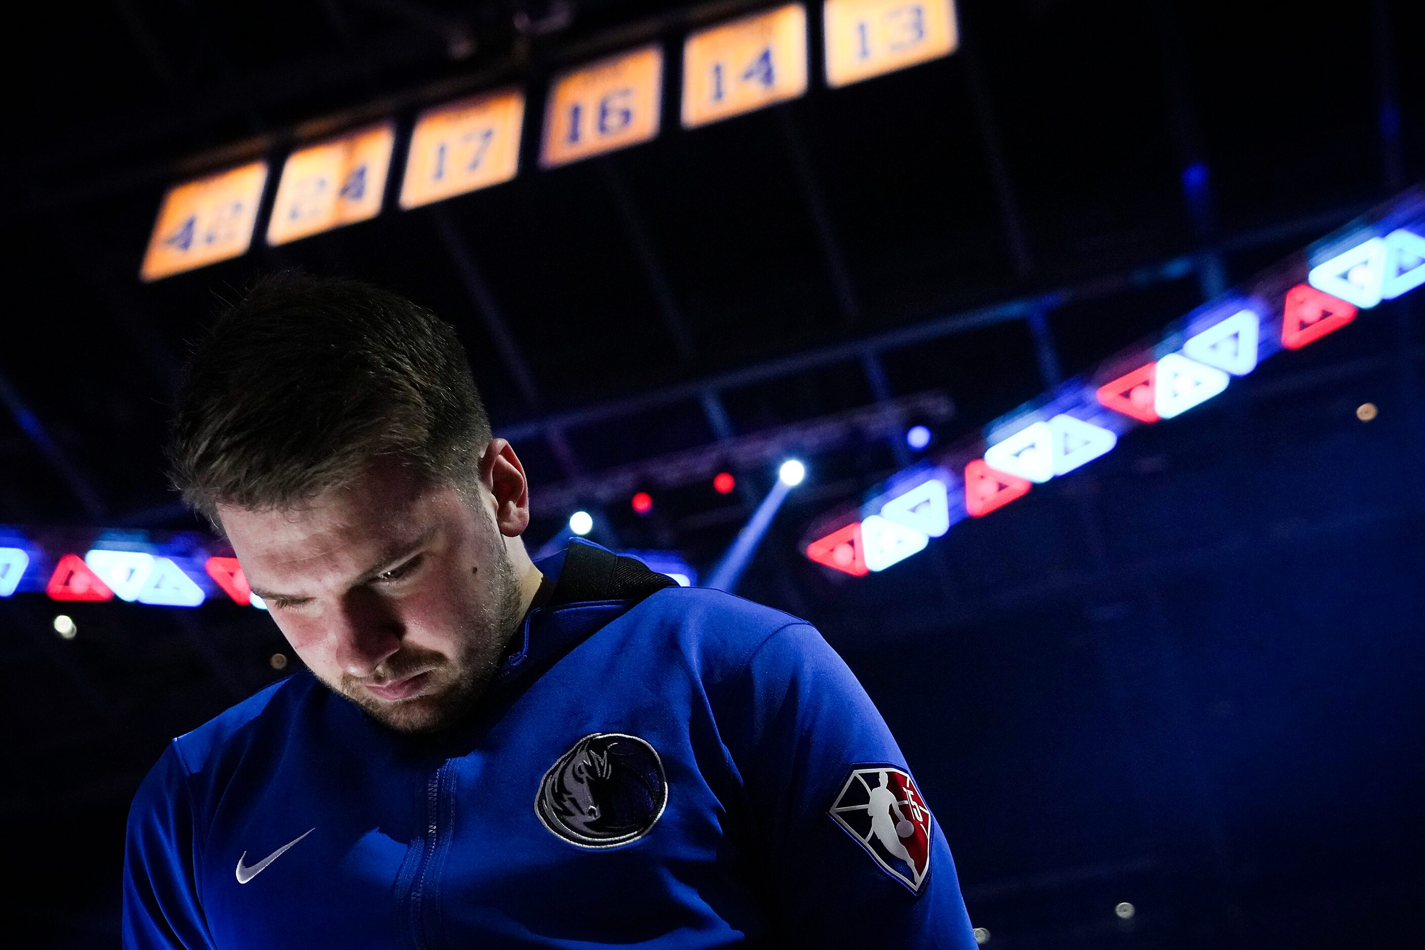
<path fill-rule="evenodd" d="M 828 813 L 888 875 L 921 893 L 931 873 L 931 809 L 905 769 L 852 769 Z"/>

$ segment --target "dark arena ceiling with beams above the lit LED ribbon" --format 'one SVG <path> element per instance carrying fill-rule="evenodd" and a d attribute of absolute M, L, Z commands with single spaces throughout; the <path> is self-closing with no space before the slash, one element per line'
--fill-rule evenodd
<path fill-rule="evenodd" d="M 1421 150 L 1419 85 L 1377 67 L 1378 48 L 1409 63 L 1411 4 L 1382 4 L 1381 31 L 1275 4 L 969 1 L 948 60 L 812 83 L 791 104 L 664 122 L 603 158 L 526 161 L 513 182 L 425 209 L 135 276 L 158 199 L 185 175 L 366 115 L 409 122 L 452 90 L 519 81 L 537 97 L 571 63 L 648 38 L 677 48 L 745 9 L 113 0 L 78 20 L 41 13 L 17 44 L 30 95 L 3 164 L 14 332 L 0 370 L 50 444 L 0 423 L 0 518 L 182 524 L 160 474 L 175 366 L 218 301 L 264 271 L 361 276 L 452 320 L 551 533 L 600 473 L 715 457 L 771 427 L 940 395 L 955 413 L 929 420 L 936 437 L 970 432 L 1213 281 L 1347 221 Z M 1382 95 L 1402 117 L 1395 144 Z M 1194 174 L 1206 204 L 1184 184 Z M 1183 255 L 1216 265 L 1153 271 Z M 1072 303 L 1043 320 L 876 343 L 1059 291 Z M 818 460 L 819 491 L 854 494 L 893 456 L 842 446 Z M 540 487 L 556 486 L 560 504 L 542 507 Z M 748 497 L 698 487 L 658 497 L 651 518 L 583 494 L 627 546 L 711 551 L 722 538 L 698 526 Z M 742 514 L 727 511 L 728 530 Z"/>

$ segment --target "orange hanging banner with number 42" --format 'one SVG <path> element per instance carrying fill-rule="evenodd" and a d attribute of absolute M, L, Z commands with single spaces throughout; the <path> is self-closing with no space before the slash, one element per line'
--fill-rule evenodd
<path fill-rule="evenodd" d="M 170 188 L 138 275 L 157 281 L 245 254 L 266 172 L 266 162 L 255 161 Z"/>

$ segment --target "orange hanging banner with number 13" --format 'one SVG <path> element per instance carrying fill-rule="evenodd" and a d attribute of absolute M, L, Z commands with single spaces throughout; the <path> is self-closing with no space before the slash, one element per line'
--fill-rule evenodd
<path fill-rule="evenodd" d="M 838 87 L 949 56 L 953 0 L 826 0 L 826 85 Z"/>

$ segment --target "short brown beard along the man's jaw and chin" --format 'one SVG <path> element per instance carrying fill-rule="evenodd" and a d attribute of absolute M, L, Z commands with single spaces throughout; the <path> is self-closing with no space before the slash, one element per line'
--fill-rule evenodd
<path fill-rule="evenodd" d="M 370 679 L 390 682 L 426 672 L 430 684 L 420 695 L 395 702 L 370 695 L 362 679 L 343 674 L 333 687 L 376 722 L 396 732 L 436 732 L 456 722 L 484 694 L 499 671 L 504 647 L 520 622 L 520 587 L 503 544 L 490 546 L 487 600 L 470 598 L 467 622 L 456 657 L 405 644 L 388 657 Z M 332 685 L 332 684 L 328 684 Z"/>

